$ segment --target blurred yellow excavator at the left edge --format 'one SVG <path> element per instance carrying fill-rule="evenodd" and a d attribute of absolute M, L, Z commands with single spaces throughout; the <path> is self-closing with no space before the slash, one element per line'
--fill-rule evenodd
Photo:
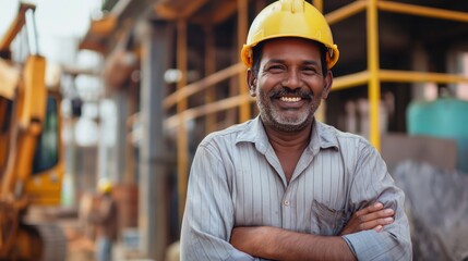
<path fill-rule="evenodd" d="M 32 223 L 32 206 L 59 204 L 63 160 L 58 92 L 46 86 L 35 5 L 21 3 L 0 41 L 0 260 L 65 260 L 57 224 Z M 29 52 L 13 61 L 11 44 L 26 29 Z M 14 52 L 13 52 L 14 53 Z"/>

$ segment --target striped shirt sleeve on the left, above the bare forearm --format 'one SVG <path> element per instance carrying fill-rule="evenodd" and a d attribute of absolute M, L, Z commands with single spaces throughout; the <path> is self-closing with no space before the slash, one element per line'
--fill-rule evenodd
<path fill-rule="evenodd" d="M 254 260 L 229 244 L 233 204 L 216 147 L 202 144 L 189 178 L 181 228 L 181 260 Z"/>

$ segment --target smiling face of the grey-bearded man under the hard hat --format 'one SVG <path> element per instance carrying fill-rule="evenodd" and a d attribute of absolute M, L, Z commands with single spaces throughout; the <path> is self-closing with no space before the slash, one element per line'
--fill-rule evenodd
<path fill-rule="evenodd" d="M 279 132 L 298 132 L 312 123 L 321 99 L 328 96 L 332 73 L 322 75 L 315 42 L 277 38 L 264 44 L 259 73 L 250 70 L 248 82 L 263 123 Z"/>

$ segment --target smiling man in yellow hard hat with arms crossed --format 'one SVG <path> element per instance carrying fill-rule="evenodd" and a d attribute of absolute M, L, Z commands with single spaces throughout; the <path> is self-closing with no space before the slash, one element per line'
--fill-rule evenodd
<path fill-rule="evenodd" d="M 324 16 L 280 0 L 241 51 L 260 115 L 208 135 L 189 179 L 185 260 L 411 260 L 404 192 L 368 140 L 316 121 L 338 48 Z"/>

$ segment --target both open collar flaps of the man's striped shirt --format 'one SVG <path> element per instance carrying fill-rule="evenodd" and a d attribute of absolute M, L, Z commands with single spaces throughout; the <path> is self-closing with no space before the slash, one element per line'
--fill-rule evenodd
<path fill-rule="evenodd" d="M 266 153 L 269 141 L 260 115 L 245 124 L 245 128 L 236 139 L 236 145 L 239 142 L 253 142 L 261 153 Z M 326 148 L 339 148 L 335 132 L 332 130 L 331 126 L 314 120 L 312 139 L 307 150 L 315 154 L 320 149 Z"/>

